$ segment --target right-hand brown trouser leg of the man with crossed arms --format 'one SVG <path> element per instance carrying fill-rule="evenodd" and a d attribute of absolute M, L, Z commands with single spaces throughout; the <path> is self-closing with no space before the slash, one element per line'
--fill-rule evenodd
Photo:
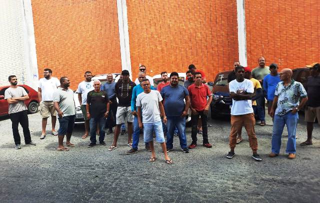
<path fill-rule="evenodd" d="M 254 114 L 245 114 L 242 116 L 244 127 L 246 130 L 246 133 L 248 134 L 249 138 L 249 145 L 253 152 L 253 154 L 256 153 L 258 150 L 258 142 L 255 136 L 254 126 L 255 126 L 255 119 Z"/>

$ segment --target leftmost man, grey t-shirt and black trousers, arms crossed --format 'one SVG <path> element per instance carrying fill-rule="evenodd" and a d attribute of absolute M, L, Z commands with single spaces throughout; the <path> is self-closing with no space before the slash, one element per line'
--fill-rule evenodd
<path fill-rule="evenodd" d="M 20 135 L 18 131 L 19 123 L 23 129 L 25 146 L 35 146 L 35 144 L 31 141 L 27 108 L 24 104 L 24 100 L 29 99 L 29 96 L 23 87 L 17 86 L 17 79 L 15 75 L 10 75 L 8 77 L 8 81 L 10 82 L 10 87 L 4 91 L 4 99 L 6 99 L 7 103 L 9 104 L 8 112 L 12 122 L 12 133 L 15 149 L 21 149 Z"/>

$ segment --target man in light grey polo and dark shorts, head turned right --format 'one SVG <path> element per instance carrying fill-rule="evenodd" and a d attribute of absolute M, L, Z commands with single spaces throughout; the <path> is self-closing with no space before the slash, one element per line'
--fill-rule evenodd
<path fill-rule="evenodd" d="M 75 105 L 73 91 L 69 89 L 70 81 L 67 77 L 60 78 L 60 87 L 53 93 L 53 106 L 58 113 L 59 130 L 58 130 L 58 147 L 57 151 L 69 151 L 63 146 L 64 135 L 66 135 L 66 146 L 74 147 L 70 143 L 75 117 Z"/>

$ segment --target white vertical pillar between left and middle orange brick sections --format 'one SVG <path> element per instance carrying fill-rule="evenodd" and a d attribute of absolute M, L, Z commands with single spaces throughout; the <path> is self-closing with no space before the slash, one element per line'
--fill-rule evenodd
<path fill-rule="evenodd" d="M 129 71 L 130 78 L 132 79 L 126 0 L 116 0 L 116 6 L 118 12 L 121 66 L 122 70 Z"/>

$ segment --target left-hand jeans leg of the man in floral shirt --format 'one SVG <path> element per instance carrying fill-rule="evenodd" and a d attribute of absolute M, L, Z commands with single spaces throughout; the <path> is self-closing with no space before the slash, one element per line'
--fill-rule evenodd
<path fill-rule="evenodd" d="M 283 116 L 274 115 L 273 119 L 271 152 L 278 155 L 280 153 L 281 136 L 285 122 Z"/>

